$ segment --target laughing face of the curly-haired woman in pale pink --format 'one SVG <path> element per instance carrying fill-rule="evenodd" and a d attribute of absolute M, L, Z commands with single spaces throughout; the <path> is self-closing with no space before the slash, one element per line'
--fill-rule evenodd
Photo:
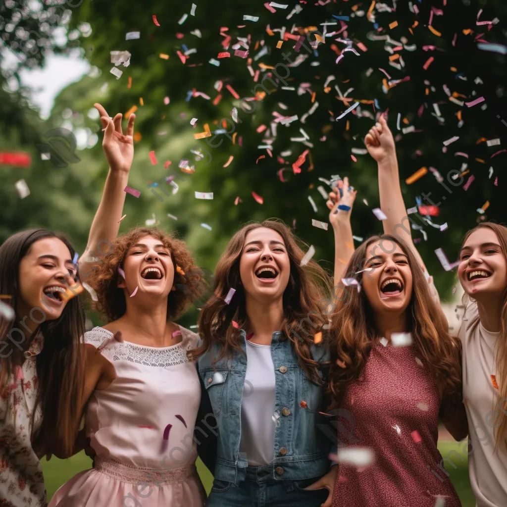
<path fill-rule="evenodd" d="M 167 297 L 174 282 L 174 266 L 170 250 L 160 239 L 143 236 L 127 251 L 123 261 L 125 280 L 120 280 L 118 287 L 127 287 L 133 293 L 151 294 Z"/>

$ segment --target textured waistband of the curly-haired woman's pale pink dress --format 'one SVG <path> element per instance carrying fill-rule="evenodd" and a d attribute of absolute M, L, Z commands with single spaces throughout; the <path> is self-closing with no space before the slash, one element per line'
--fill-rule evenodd
<path fill-rule="evenodd" d="M 180 468 L 139 468 L 111 458 L 95 457 L 95 467 L 108 477 L 128 484 L 165 485 L 187 482 L 196 472 L 195 464 Z"/>

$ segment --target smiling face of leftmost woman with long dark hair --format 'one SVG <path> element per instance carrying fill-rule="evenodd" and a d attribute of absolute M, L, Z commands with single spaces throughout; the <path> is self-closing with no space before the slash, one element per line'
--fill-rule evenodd
<path fill-rule="evenodd" d="M 58 238 L 35 241 L 19 264 L 20 317 L 32 308 L 43 308 L 48 320 L 59 318 L 68 298 L 67 285 L 76 286 L 76 266 L 70 251 Z"/>

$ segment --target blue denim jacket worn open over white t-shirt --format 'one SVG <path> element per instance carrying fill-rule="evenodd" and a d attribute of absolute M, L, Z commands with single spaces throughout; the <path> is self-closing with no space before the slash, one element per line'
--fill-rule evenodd
<path fill-rule="evenodd" d="M 216 418 L 215 479 L 238 485 L 246 477 L 248 462 L 239 452 L 241 402 L 246 374 L 246 333 L 241 330 L 244 354 L 224 357 L 213 367 L 218 347 L 198 359 L 199 376 Z M 312 357 L 318 363 L 329 360 L 324 346 L 313 345 Z M 272 473 L 269 480 L 302 481 L 328 472 L 333 442 L 317 427 L 326 423 L 324 387 L 312 382 L 301 369 L 292 342 L 281 332 L 273 333 L 271 355 L 275 368 L 276 429 Z M 325 366 L 319 375 L 325 378 Z M 305 402 L 305 403 L 302 403 Z"/>

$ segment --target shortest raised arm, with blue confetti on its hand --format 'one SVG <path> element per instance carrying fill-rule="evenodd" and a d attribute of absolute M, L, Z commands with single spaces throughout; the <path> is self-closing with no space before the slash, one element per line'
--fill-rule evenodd
<path fill-rule="evenodd" d="M 348 178 L 338 182 L 335 192 L 329 194 L 326 203 L 330 209 L 329 221 L 333 226 L 335 236 L 335 293 L 341 284 L 345 268 L 354 253 L 354 239 L 352 238 L 352 226 L 350 225 L 350 214 L 354 204 L 357 191 L 349 187 Z M 339 297 L 335 294 L 336 297 Z"/>

